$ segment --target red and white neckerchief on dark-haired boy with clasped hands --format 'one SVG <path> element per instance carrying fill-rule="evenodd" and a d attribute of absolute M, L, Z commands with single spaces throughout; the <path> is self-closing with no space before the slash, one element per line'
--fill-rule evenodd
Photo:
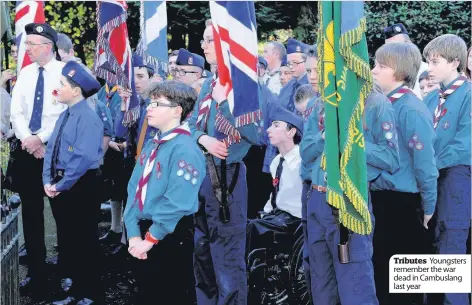
<path fill-rule="evenodd" d="M 136 196 L 134 197 L 134 201 L 135 202 L 138 201 L 138 207 L 141 212 L 143 211 L 143 208 L 144 208 L 144 201 L 146 200 L 147 184 L 149 182 L 149 178 L 151 177 L 152 169 L 156 161 L 157 151 L 159 150 L 159 147 L 161 146 L 161 144 L 172 140 L 179 134 L 184 134 L 188 136 L 190 135 L 190 128 L 188 127 L 187 123 L 175 128 L 171 133 L 164 136 L 160 140 L 157 139 L 157 135 L 153 139 L 154 143 L 156 143 L 157 146 L 151 151 L 151 154 L 146 161 L 143 174 L 141 178 L 139 179 L 138 186 L 136 187 Z M 158 163 L 158 167 L 160 167 L 159 163 Z M 158 170 L 160 169 L 158 168 Z"/>

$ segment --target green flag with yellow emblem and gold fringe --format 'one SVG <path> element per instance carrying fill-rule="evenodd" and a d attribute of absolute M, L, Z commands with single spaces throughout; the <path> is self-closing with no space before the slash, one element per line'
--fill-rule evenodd
<path fill-rule="evenodd" d="M 339 209 L 340 222 L 346 228 L 370 234 L 362 118 L 372 75 L 364 3 L 320 1 L 318 12 L 326 135 L 321 166 L 327 173 L 327 202 Z"/>

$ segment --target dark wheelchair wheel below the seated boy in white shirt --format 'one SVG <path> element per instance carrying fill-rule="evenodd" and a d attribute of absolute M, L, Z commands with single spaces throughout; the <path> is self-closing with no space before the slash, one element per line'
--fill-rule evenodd
<path fill-rule="evenodd" d="M 293 252 L 290 255 L 290 283 L 292 284 L 293 304 L 308 305 L 312 304 L 310 300 L 309 289 L 305 281 L 303 267 L 303 235 L 299 236 L 293 246 Z"/>

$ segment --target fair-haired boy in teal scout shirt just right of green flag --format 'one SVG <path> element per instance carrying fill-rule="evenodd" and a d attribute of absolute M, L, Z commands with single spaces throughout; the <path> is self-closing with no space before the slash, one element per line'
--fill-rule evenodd
<path fill-rule="evenodd" d="M 380 47 L 372 70 L 374 81 L 395 110 L 400 169 L 382 171 L 371 183 L 374 264 L 381 304 L 413 304 L 421 295 L 388 293 L 388 262 L 394 254 L 421 254 L 428 248 L 425 228 L 436 207 L 438 171 L 434 160 L 434 129 L 426 105 L 411 91 L 421 64 L 421 53 L 411 43 Z M 388 140 L 394 136 L 390 121 L 382 123 Z M 385 133 L 387 137 L 387 133 Z M 381 160 L 379 160 L 381 161 Z M 398 225 L 398 219 L 402 225 Z M 416 300 L 415 300 L 416 299 Z"/>

